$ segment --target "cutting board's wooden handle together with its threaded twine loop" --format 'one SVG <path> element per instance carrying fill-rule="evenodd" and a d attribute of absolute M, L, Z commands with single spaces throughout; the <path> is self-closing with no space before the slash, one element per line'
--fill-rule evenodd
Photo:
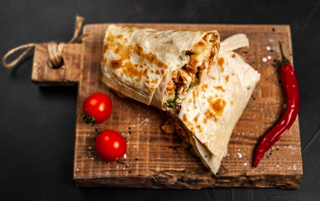
<path fill-rule="evenodd" d="M 75 85 L 82 74 L 81 64 L 83 62 L 84 45 L 79 36 L 84 18 L 76 16 L 76 26 L 74 36 L 67 43 L 47 42 L 28 43 L 10 50 L 3 57 L 3 64 L 6 68 L 11 68 L 17 64 L 33 48 L 33 65 L 31 80 L 41 86 L 53 85 Z M 28 49 L 26 49 L 28 48 Z M 7 62 L 7 58 L 18 50 L 26 49 L 15 60 Z"/>

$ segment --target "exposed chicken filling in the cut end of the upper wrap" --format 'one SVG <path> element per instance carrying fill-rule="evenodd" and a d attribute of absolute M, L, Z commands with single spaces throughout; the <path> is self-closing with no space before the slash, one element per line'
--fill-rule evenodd
<path fill-rule="evenodd" d="M 189 62 L 181 69 L 172 72 L 166 88 L 168 107 L 177 108 L 188 91 L 197 84 L 201 70 L 213 65 L 215 50 L 218 49 L 214 44 L 216 39 L 217 36 L 207 34 L 191 50 L 186 52 L 186 56 L 189 56 Z"/>

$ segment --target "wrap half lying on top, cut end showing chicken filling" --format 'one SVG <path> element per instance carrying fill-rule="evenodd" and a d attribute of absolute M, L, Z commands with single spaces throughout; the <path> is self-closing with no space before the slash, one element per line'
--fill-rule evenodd
<path fill-rule="evenodd" d="M 220 49 L 217 31 L 157 31 L 109 25 L 102 81 L 162 110 L 177 108 L 208 74 Z"/>

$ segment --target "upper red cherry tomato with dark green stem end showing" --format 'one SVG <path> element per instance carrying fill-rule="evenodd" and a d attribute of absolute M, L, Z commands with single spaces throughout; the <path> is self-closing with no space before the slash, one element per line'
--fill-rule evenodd
<path fill-rule="evenodd" d="M 88 96 L 82 105 L 85 117 L 83 121 L 90 125 L 102 123 L 111 115 L 112 101 L 103 93 L 94 93 Z"/>

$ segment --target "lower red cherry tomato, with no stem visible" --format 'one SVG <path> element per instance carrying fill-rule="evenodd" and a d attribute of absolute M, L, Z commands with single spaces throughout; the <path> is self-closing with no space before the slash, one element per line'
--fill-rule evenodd
<path fill-rule="evenodd" d="M 119 132 L 104 130 L 96 138 L 95 149 L 102 160 L 114 162 L 126 153 L 127 143 Z"/>

